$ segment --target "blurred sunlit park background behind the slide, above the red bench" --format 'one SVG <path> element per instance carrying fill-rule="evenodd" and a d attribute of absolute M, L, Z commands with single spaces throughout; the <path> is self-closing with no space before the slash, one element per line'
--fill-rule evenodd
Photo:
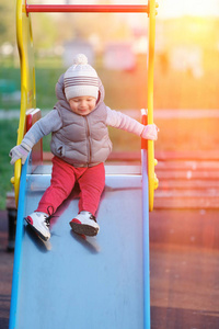
<path fill-rule="evenodd" d="M 138 0 L 38 0 L 28 3 L 147 4 Z M 154 67 L 155 150 L 217 150 L 219 144 L 219 0 L 158 1 Z M 20 59 L 15 0 L 0 0 L 0 208 L 11 189 L 9 150 L 16 143 Z M 32 13 L 36 102 L 43 114 L 55 84 L 84 53 L 105 87 L 105 103 L 140 120 L 147 107 L 147 14 Z M 140 149 L 130 134 L 111 129 L 115 151 Z M 49 150 L 49 137 L 44 140 Z"/>

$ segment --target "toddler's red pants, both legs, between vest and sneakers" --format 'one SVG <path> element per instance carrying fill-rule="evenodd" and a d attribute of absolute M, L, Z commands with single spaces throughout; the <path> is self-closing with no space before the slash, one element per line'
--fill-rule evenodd
<path fill-rule="evenodd" d="M 76 182 L 80 186 L 79 212 L 87 211 L 95 216 L 101 194 L 105 186 L 105 169 L 100 163 L 89 168 L 74 168 L 58 157 L 53 158 L 50 186 L 39 201 L 36 212 L 51 215 L 69 196 Z"/>

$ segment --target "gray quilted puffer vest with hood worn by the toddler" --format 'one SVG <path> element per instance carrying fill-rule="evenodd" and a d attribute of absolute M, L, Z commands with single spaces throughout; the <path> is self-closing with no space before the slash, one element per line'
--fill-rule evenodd
<path fill-rule="evenodd" d="M 51 152 L 74 167 L 93 167 L 104 162 L 112 150 L 106 126 L 104 89 L 100 80 L 100 100 L 95 109 L 81 116 L 70 110 L 64 91 L 64 76 L 56 84 L 58 111 L 62 127 L 51 134 Z"/>

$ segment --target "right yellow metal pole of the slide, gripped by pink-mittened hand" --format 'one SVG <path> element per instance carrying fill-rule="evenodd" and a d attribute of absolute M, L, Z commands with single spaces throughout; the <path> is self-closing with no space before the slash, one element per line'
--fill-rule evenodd
<path fill-rule="evenodd" d="M 153 123 L 153 72 L 154 72 L 154 44 L 155 44 L 155 8 L 154 0 L 148 1 L 149 7 L 149 54 L 148 54 L 148 124 Z M 154 190 L 158 188 L 158 178 L 154 173 L 154 141 L 148 140 L 148 180 L 149 180 L 149 211 L 153 209 Z"/>

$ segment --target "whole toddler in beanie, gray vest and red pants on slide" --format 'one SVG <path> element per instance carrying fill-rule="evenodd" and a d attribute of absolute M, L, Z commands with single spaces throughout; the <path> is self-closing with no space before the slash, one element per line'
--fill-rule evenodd
<path fill-rule="evenodd" d="M 44 240 L 48 240 L 49 217 L 78 182 L 79 213 L 69 224 L 79 235 L 95 236 L 100 230 L 95 213 L 105 185 L 104 161 L 112 150 L 107 126 L 152 140 L 158 138 L 158 128 L 154 124 L 145 126 L 107 107 L 103 84 L 83 54 L 77 55 L 73 65 L 59 78 L 56 94 L 58 102 L 54 110 L 36 122 L 21 145 L 10 151 L 11 164 L 18 159 L 23 164 L 32 147 L 51 133 L 50 185 L 35 212 L 25 220 Z"/>

